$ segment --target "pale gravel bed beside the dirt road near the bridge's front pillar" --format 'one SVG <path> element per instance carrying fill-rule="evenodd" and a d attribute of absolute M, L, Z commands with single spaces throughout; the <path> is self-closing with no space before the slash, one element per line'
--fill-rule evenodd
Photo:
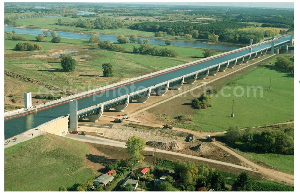
<path fill-rule="evenodd" d="M 184 141 L 182 137 L 169 137 L 170 135 L 155 132 L 147 129 L 136 129 L 133 127 L 127 127 L 123 125 L 113 125 L 111 129 L 108 129 L 104 134 L 105 137 L 128 140 L 131 136 L 139 136 L 147 141 L 158 141 L 158 142 L 173 142 L 173 141 Z"/>

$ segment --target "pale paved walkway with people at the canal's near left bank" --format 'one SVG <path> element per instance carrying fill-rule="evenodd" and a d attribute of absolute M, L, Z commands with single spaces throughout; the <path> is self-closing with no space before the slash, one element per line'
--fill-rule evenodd
<path fill-rule="evenodd" d="M 32 136 L 32 134 L 33 136 Z M 35 129 L 30 129 L 24 133 L 21 133 L 19 135 L 16 135 L 16 136 L 13 136 L 9 139 L 6 139 L 4 140 L 4 149 L 7 148 L 7 147 L 10 147 L 10 146 L 13 146 L 13 145 L 16 145 L 16 144 L 19 144 L 21 142 L 24 142 L 24 141 L 27 141 L 27 140 L 30 140 L 30 139 L 33 139 L 35 137 L 38 137 L 39 135 L 42 135 L 44 134 L 45 132 L 44 131 L 38 131 L 38 130 L 35 130 Z M 23 135 L 24 134 L 24 135 Z M 14 140 L 14 137 L 17 138 L 17 141 Z M 7 140 L 9 141 L 10 140 L 10 143 L 6 143 Z"/>

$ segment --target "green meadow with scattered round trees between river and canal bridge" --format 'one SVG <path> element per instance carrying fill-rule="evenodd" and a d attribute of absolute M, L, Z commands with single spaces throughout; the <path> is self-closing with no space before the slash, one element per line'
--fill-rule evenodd
<path fill-rule="evenodd" d="M 35 40 L 35 36 L 32 35 L 22 35 L 22 37 Z M 45 39 L 50 41 L 52 37 L 45 37 Z M 161 57 L 131 53 L 134 46 L 139 47 L 137 43 L 120 44 L 129 51 L 121 53 L 113 50 L 100 50 L 97 48 L 97 45 L 88 44 L 87 40 L 62 38 L 61 41 L 67 43 L 31 42 L 40 44 L 42 50 L 17 51 L 14 50 L 15 45 L 26 41 L 5 39 L 4 68 L 61 88 L 70 86 L 71 84 L 73 87 L 88 85 L 98 87 L 107 83 L 117 82 L 122 79 L 194 61 L 200 59 L 204 52 L 199 48 L 151 45 L 152 47 L 157 46 L 158 48 L 173 49 L 179 53 L 178 57 Z M 70 54 L 77 62 L 74 72 L 61 71 L 60 59 L 58 57 L 51 57 L 51 55 L 64 50 L 77 51 Z M 103 77 L 101 65 L 105 62 L 110 62 L 113 65 L 115 77 Z M 37 89 L 38 87 L 35 87 L 35 90 Z M 82 88 L 78 92 L 87 89 L 89 88 Z M 36 92 L 35 90 L 31 92 Z"/>

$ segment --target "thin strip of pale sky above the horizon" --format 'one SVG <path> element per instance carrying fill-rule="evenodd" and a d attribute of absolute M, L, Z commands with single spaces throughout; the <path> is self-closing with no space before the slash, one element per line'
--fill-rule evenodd
<path fill-rule="evenodd" d="M 197 5 L 197 6 L 234 6 L 234 7 L 261 7 L 261 8 L 294 8 L 294 3 L 290 2 L 270 2 L 270 3 L 259 3 L 259 2 L 227 2 L 227 3 L 147 3 L 147 4 L 170 4 L 170 5 Z"/>

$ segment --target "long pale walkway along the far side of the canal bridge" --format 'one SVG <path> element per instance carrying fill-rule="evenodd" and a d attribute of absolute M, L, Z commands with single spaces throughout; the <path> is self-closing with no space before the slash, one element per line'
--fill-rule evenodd
<path fill-rule="evenodd" d="M 283 36 L 281 36 L 281 37 L 283 37 Z M 117 83 L 112 83 L 112 84 L 102 86 L 102 87 L 99 87 L 99 88 L 90 89 L 90 90 L 80 92 L 80 93 L 77 93 L 77 94 L 74 94 L 74 95 L 62 97 L 60 99 L 56 99 L 56 100 L 53 100 L 53 101 L 50 101 L 50 102 L 35 105 L 35 106 L 29 107 L 29 108 L 23 108 L 23 109 L 18 109 L 18 110 L 14 110 L 14 111 L 5 112 L 4 117 L 5 117 L 5 115 L 13 114 L 13 113 L 16 113 L 16 112 L 19 113 L 19 111 L 31 111 L 31 110 L 35 110 L 37 108 L 41 108 L 41 107 L 48 106 L 48 105 L 51 105 L 51 104 L 56 104 L 56 103 L 59 103 L 59 102 L 64 102 L 66 100 L 70 100 L 70 99 L 74 99 L 74 98 L 77 98 L 77 97 L 80 97 L 80 96 L 88 95 L 88 94 L 91 94 L 91 93 L 94 93 L 94 92 L 100 92 L 104 89 L 109 89 L 109 88 L 112 88 L 114 86 L 120 86 L 120 85 L 122 86 L 122 84 L 129 83 L 129 82 L 136 81 L 136 80 L 140 80 L 140 79 L 143 79 L 143 78 L 146 78 L 146 77 L 150 77 L 152 75 L 160 74 L 160 73 L 170 71 L 170 70 L 174 70 L 174 69 L 177 69 L 177 68 L 182 68 L 184 66 L 192 65 L 192 64 L 195 64 L 195 63 L 198 63 L 198 62 L 214 59 L 214 58 L 217 58 L 219 56 L 229 55 L 230 53 L 238 52 L 240 50 L 246 50 L 246 49 L 249 49 L 251 47 L 255 47 L 257 45 L 260 45 L 260 44 L 266 44 L 266 43 L 274 41 L 278 38 L 280 38 L 280 37 L 277 37 L 277 38 L 274 38 L 274 39 L 271 39 L 271 40 L 268 40 L 268 41 L 256 43 L 256 44 L 253 44 L 253 45 L 249 45 L 249 46 L 246 46 L 246 47 L 238 48 L 238 49 L 235 49 L 235 50 L 227 51 L 225 53 L 219 53 L 219 54 L 211 56 L 211 57 L 206 57 L 206 58 L 199 59 L 199 60 L 196 60 L 196 61 L 191 61 L 191 62 L 184 63 L 184 64 L 181 64 L 181 65 L 176 65 L 174 67 L 166 68 L 166 69 L 163 69 L 163 70 L 160 70 L 160 71 L 156 71 L 154 73 L 145 74 L 145 75 L 142 75 L 142 76 L 139 76 L 139 77 L 134 77 L 134 78 L 131 78 L 131 79 L 128 79 L 128 80 L 123 80 L 123 81 L 120 81 L 120 82 L 117 82 Z"/>

